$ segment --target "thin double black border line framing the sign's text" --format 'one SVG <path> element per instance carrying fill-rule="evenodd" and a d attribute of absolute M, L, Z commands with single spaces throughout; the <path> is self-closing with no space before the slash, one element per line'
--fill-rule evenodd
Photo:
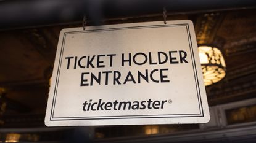
<path fill-rule="evenodd" d="M 196 91 L 197 91 L 197 99 L 199 104 L 200 113 L 195 114 L 162 114 L 162 115 L 120 115 L 120 116 L 95 116 L 95 117 L 54 117 L 54 109 L 56 104 L 56 96 L 57 96 L 57 88 L 59 85 L 59 76 L 60 76 L 60 69 L 62 63 L 62 55 L 64 52 L 65 46 L 65 39 L 67 34 L 74 34 L 74 33 L 91 33 L 91 32 L 99 32 L 99 31 L 115 31 L 115 30 L 125 30 L 125 29 L 144 29 L 144 28 L 162 28 L 162 27 L 171 27 L 171 26 L 186 26 L 187 35 L 188 35 L 188 42 L 189 42 L 189 50 L 192 60 L 192 68 L 194 72 L 194 79 L 196 83 Z M 202 107 L 202 99 L 200 94 L 198 76 L 197 76 L 197 69 L 196 63 L 194 59 L 194 51 L 192 49 L 192 41 L 191 41 L 191 34 L 189 31 L 188 23 L 183 24 L 173 24 L 173 25 L 152 25 L 152 26 L 133 26 L 133 27 L 123 27 L 123 28 L 107 28 L 107 29 L 94 29 L 94 30 L 86 30 L 86 31 L 73 31 L 73 32 L 64 32 L 64 36 L 62 39 L 62 47 L 60 49 L 60 58 L 59 64 L 57 69 L 57 78 L 54 87 L 54 96 L 52 100 L 52 108 L 51 108 L 51 115 L 50 121 L 60 121 L 60 120 L 105 120 L 105 119 L 128 119 L 128 118 L 183 118 L 183 117 L 204 117 L 204 110 Z"/>

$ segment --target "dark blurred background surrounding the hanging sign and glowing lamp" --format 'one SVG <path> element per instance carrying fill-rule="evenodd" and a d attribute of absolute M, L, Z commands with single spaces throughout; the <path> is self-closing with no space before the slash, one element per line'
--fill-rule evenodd
<path fill-rule="evenodd" d="M 244 120 L 237 126 L 220 122 L 210 129 L 194 124 L 80 128 L 44 125 L 49 78 L 61 29 L 82 26 L 83 15 L 87 17 L 86 26 L 163 21 L 163 7 L 167 9 L 167 20 L 193 21 L 197 44 L 215 45 L 225 56 L 225 79 L 206 87 L 209 106 L 215 109 L 241 101 L 253 102 L 256 95 L 256 1 L 6 0 L 0 1 L 0 87 L 4 89 L 0 91 L 0 141 L 5 141 L 7 134 L 19 133 L 23 142 L 72 142 L 75 139 L 186 142 L 184 139 L 189 137 L 185 134 L 197 133 L 189 141 L 254 142 L 255 114 L 248 122 Z M 253 105 L 244 107 L 247 114 L 254 109 Z M 226 115 L 238 115 L 237 110 L 228 110 Z M 218 114 L 216 118 L 223 120 Z M 237 123 L 230 120 L 230 123 Z M 158 128 L 159 133 L 145 135 L 147 128 Z M 229 136 L 231 133 L 233 135 Z"/>

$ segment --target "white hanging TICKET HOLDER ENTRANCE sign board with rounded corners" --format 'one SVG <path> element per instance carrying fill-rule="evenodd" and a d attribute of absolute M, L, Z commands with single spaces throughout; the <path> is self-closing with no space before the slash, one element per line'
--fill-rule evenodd
<path fill-rule="evenodd" d="M 191 21 L 60 32 L 47 126 L 206 123 L 209 118 Z"/>

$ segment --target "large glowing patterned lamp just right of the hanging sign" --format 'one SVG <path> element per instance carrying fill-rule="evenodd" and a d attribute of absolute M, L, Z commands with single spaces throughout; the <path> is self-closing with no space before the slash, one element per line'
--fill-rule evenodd
<path fill-rule="evenodd" d="M 199 46 L 199 58 L 204 76 L 204 85 L 219 82 L 226 75 L 223 55 L 216 47 Z"/>

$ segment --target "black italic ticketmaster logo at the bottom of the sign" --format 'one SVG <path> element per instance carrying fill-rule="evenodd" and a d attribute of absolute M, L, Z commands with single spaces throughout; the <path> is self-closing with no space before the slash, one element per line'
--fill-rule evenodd
<path fill-rule="evenodd" d="M 170 103 L 171 100 L 168 102 Z M 117 101 L 114 102 L 102 102 L 99 99 L 97 102 L 93 100 L 85 101 L 83 103 L 83 111 L 96 111 L 96 110 L 143 110 L 143 109 L 163 109 L 167 100 L 162 101 L 152 101 L 148 99 L 147 101 Z"/>

